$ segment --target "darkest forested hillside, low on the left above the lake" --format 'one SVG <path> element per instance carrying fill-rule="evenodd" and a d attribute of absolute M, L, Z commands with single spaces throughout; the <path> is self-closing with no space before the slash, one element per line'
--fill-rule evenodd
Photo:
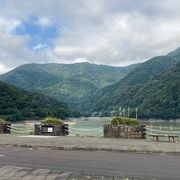
<path fill-rule="evenodd" d="M 65 103 L 45 95 L 20 90 L 0 81 L 1 118 L 18 121 L 48 115 L 64 119 L 70 115 L 70 111 Z"/>

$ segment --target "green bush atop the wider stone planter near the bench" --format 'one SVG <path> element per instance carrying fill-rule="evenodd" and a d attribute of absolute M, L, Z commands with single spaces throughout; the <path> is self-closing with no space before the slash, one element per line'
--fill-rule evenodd
<path fill-rule="evenodd" d="M 115 126 L 118 124 L 134 126 L 139 125 L 139 121 L 133 118 L 115 117 L 112 119 L 111 124 Z"/>

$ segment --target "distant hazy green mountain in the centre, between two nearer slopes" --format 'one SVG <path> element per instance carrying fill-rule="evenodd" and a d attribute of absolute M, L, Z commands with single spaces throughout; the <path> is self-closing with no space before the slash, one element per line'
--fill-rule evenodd
<path fill-rule="evenodd" d="M 0 80 L 25 90 L 49 95 L 67 102 L 75 109 L 96 91 L 119 81 L 138 65 L 26 64 L 1 75 Z"/>

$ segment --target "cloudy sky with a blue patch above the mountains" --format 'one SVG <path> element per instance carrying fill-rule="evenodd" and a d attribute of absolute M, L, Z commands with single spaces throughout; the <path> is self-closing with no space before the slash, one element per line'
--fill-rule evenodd
<path fill-rule="evenodd" d="M 0 74 L 27 63 L 126 66 L 180 47 L 179 0 L 0 4 Z"/>

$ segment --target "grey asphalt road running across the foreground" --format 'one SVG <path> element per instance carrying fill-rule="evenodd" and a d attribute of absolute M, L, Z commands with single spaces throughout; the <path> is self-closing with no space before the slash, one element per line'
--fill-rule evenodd
<path fill-rule="evenodd" d="M 79 173 L 180 179 L 180 156 L 0 147 L 0 168 L 20 166 Z"/>

